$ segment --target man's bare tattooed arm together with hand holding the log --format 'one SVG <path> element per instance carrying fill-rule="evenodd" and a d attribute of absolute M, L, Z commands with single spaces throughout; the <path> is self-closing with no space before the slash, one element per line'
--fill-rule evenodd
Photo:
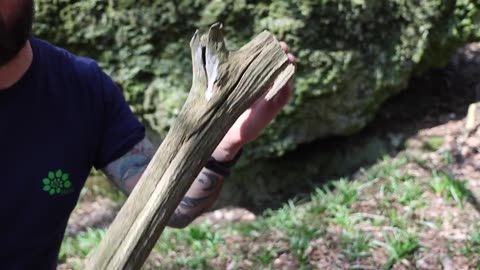
<path fill-rule="evenodd" d="M 288 54 L 287 44 L 282 42 L 281 45 L 285 53 Z M 288 58 L 290 62 L 295 62 L 293 55 L 288 54 Z M 262 130 L 287 104 L 291 95 L 292 85 L 289 82 L 270 101 L 265 100 L 264 97 L 257 100 L 227 132 L 214 151 L 213 157 L 218 161 L 232 160 L 244 144 L 255 140 L 260 135 Z M 116 183 L 126 194 L 129 194 L 154 154 L 154 146 L 148 139 L 144 139 L 130 152 L 111 162 L 102 170 L 108 178 Z M 178 205 L 168 225 L 175 228 L 187 226 L 192 220 L 212 206 L 220 193 L 222 184 L 222 175 L 204 168 L 193 182 L 180 205 Z"/>

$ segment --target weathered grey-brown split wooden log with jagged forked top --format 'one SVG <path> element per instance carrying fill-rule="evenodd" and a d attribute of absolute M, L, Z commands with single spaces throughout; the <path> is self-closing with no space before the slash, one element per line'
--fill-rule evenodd
<path fill-rule="evenodd" d="M 294 66 L 267 31 L 238 51 L 222 26 L 193 36 L 193 83 L 176 122 L 86 263 L 86 269 L 140 269 L 171 215 L 235 120 L 266 89 L 272 98 Z"/>

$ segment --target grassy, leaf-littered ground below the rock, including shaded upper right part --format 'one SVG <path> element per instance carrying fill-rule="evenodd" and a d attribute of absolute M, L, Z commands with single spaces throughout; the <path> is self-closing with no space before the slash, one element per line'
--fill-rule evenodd
<path fill-rule="evenodd" d="M 392 151 L 261 215 L 219 209 L 167 229 L 145 269 L 480 269 L 480 45 L 412 78 L 358 138 Z M 125 197 L 89 179 L 60 261 L 81 268 Z"/>

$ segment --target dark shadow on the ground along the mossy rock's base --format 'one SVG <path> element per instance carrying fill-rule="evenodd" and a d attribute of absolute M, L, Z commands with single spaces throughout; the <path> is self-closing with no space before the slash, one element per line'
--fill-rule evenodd
<path fill-rule="evenodd" d="M 292 179 L 299 170 L 310 175 L 310 179 L 299 179 L 288 190 L 281 183 L 277 187 L 264 185 L 262 181 L 250 186 L 243 182 L 229 187 L 227 183 L 228 191 L 222 193 L 216 207 L 235 205 L 261 213 L 267 208 L 281 207 L 292 198 L 308 198 L 312 188 L 329 179 L 348 178 L 359 168 L 368 167 L 386 155 L 395 156 L 420 130 L 465 118 L 469 104 L 478 101 L 479 43 L 459 50 L 445 68 L 413 76 L 408 88 L 389 99 L 360 133 L 301 145 L 285 158 L 272 160 L 258 169 L 261 175 L 261 170 L 282 168 L 277 175 L 280 182 Z M 288 175 L 289 171 L 293 174 Z"/>

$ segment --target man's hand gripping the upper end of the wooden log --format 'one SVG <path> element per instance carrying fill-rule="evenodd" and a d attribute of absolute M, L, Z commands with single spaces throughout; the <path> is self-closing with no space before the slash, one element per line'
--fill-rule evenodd
<path fill-rule="evenodd" d="M 288 46 L 280 42 L 282 49 L 288 55 L 292 64 L 295 57 L 288 53 Z M 232 160 L 243 145 L 255 140 L 268 124 L 277 116 L 287 104 L 292 95 L 292 82 L 290 81 L 278 94 L 267 101 L 265 95 L 257 100 L 252 107 L 246 110 L 233 124 L 223 140 L 217 146 L 212 156 L 218 161 Z M 265 94 L 268 91 L 265 92 Z"/>

